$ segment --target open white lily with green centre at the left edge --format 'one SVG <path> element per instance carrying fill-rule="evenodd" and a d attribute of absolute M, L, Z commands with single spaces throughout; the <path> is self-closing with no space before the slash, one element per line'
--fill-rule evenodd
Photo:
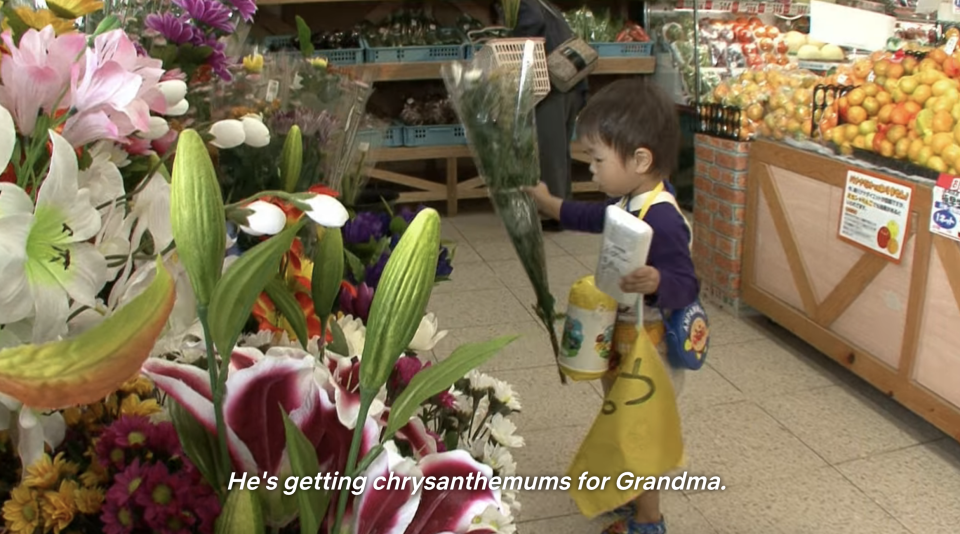
<path fill-rule="evenodd" d="M 65 334 L 70 299 L 94 306 L 106 283 L 107 262 L 87 243 L 100 230 L 100 214 L 90 191 L 78 186 L 70 143 L 52 131 L 50 138 L 50 172 L 36 207 L 20 187 L 0 184 L 0 324 L 34 317 L 34 343 Z"/>

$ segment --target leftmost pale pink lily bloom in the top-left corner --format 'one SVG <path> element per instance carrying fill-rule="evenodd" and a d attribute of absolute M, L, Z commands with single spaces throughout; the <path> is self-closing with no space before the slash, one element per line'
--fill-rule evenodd
<path fill-rule="evenodd" d="M 0 62 L 0 105 L 10 110 L 21 135 L 29 136 L 41 111 L 52 113 L 57 99 L 69 87 L 71 68 L 87 46 L 83 34 L 59 37 L 52 26 L 27 30 L 15 45 L 10 32 L 3 33 L 10 52 Z M 69 106 L 66 98 L 60 107 Z"/>

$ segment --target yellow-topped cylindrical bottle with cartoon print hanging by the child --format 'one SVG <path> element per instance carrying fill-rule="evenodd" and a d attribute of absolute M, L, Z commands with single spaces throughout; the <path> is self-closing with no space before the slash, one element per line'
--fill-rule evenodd
<path fill-rule="evenodd" d="M 597 289 L 593 276 L 570 288 L 560 341 L 560 370 L 575 381 L 597 380 L 609 368 L 617 301 Z"/>

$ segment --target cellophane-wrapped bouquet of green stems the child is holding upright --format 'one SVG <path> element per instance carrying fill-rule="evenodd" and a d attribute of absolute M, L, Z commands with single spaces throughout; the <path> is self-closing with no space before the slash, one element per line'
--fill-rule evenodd
<path fill-rule="evenodd" d="M 472 61 L 444 65 L 443 80 L 466 130 L 477 170 L 533 285 L 535 309 L 547 327 L 554 357 L 559 357 L 543 230 L 536 204 L 523 191 L 540 181 L 534 53 L 535 43 L 527 41 L 519 65 L 497 62 L 492 54 L 477 54 Z M 560 380 L 566 383 L 562 372 Z"/>

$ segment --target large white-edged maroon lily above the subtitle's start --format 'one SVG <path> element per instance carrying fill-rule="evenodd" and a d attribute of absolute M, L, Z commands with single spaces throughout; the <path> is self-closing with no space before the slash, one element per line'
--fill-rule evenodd
<path fill-rule="evenodd" d="M 271 349 L 273 350 L 273 349 Z M 296 349 L 268 357 L 244 349 L 231 357 L 227 378 L 224 420 L 227 443 L 238 472 L 251 475 L 289 474 L 289 458 L 280 408 L 314 445 L 320 469 L 343 472 L 353 431 L 337 418 L 336 406 L 314 378 L 313 357 Z M 157 387 L 189 411 L 207 430 L 216 433 L 212 393 L 206 371 L 191 365 L 150 359 L 143 372 Z M 364 423 L 361 457 L 378 442 L 376 420 Z M 296 517 L 296 500 L 277 490 L 263 495 L 267 522 L 283 526 Z"/>

